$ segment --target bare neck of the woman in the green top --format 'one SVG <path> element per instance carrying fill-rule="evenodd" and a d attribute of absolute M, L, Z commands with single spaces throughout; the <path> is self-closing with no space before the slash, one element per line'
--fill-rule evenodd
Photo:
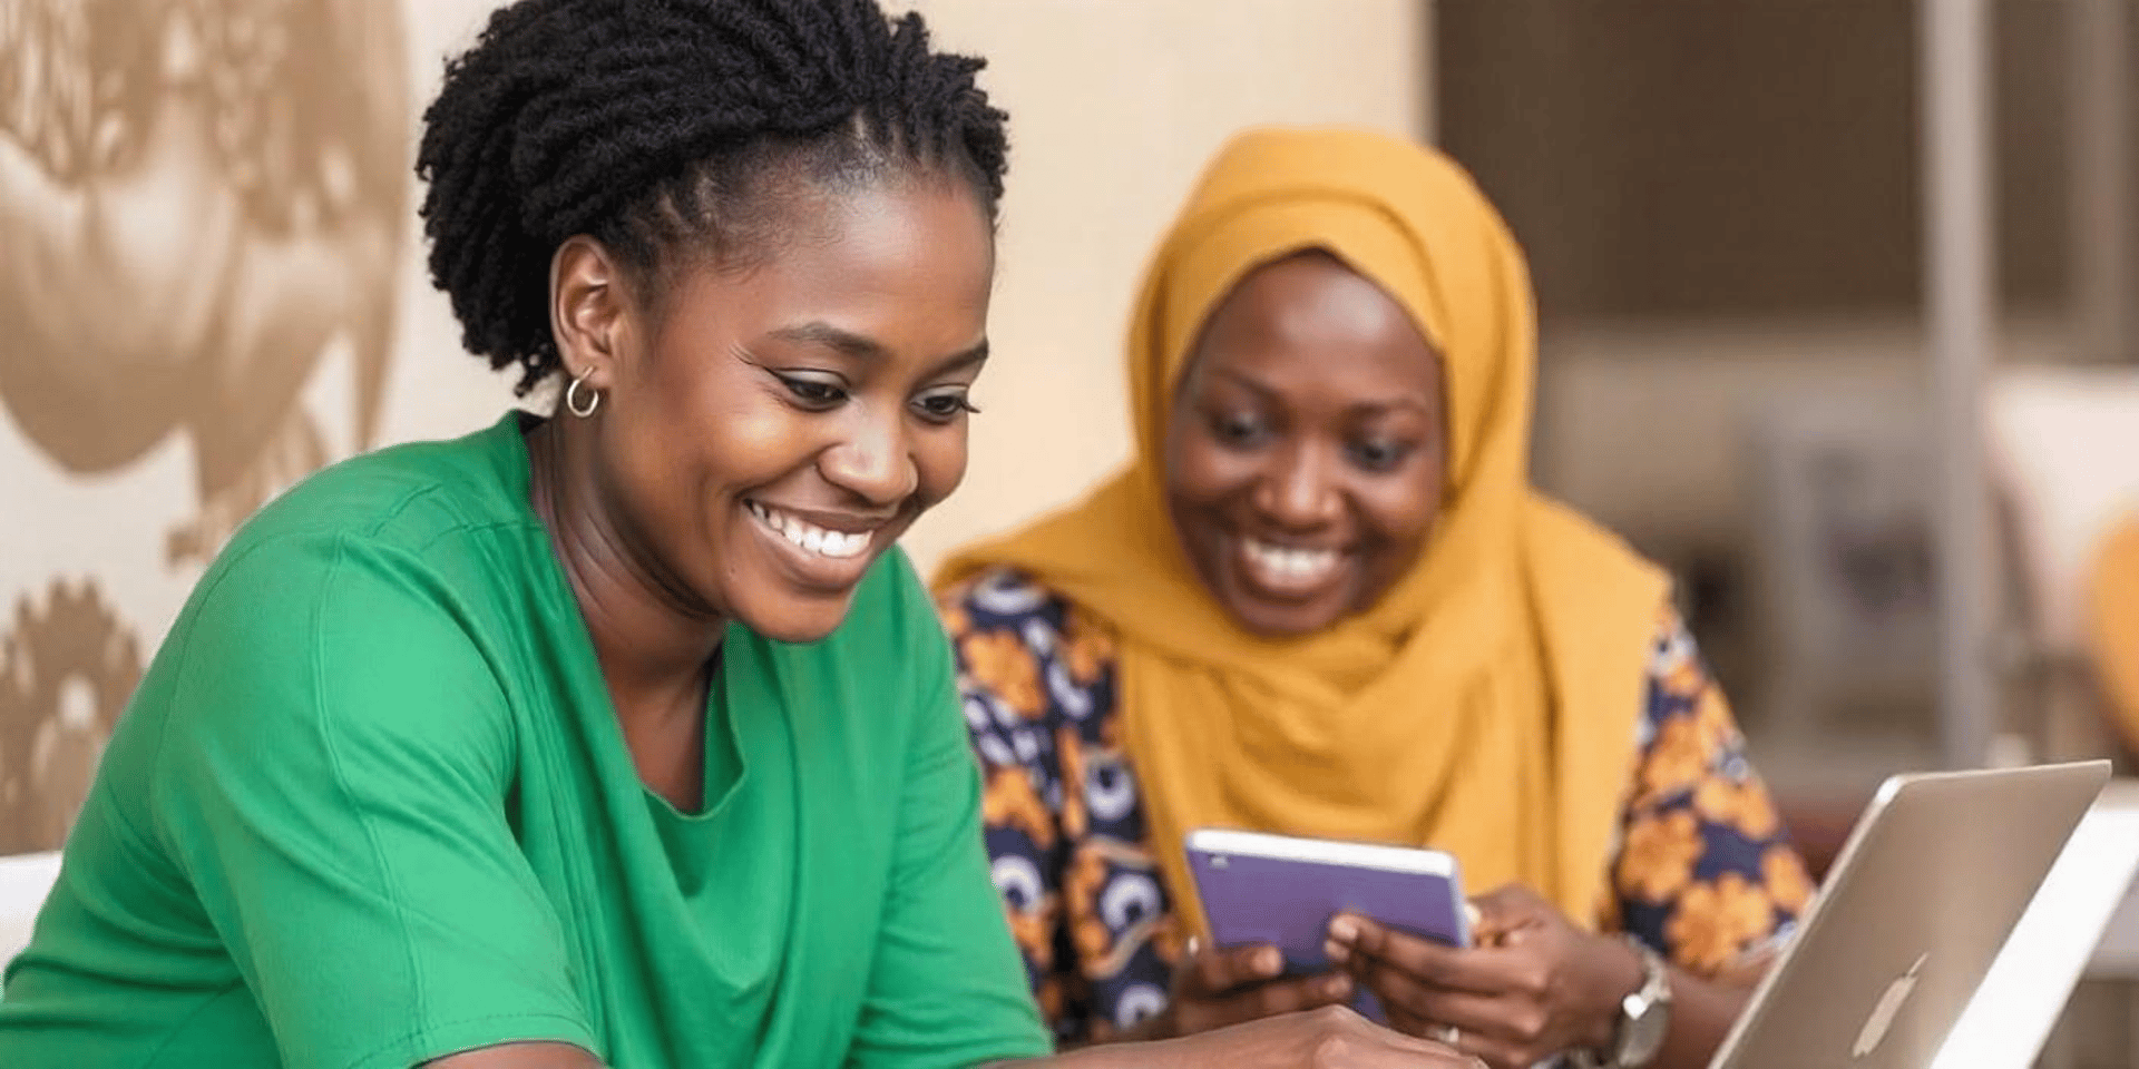
<path fill-rule="evenodd" d="M 526 434 L 535 515 L 586 620 L 616 714 L 704 710 L 708 663 L 725 620 L 684 603 L 659 579 L 650 547 L 629 534 L 595 477 L 588 434 L 563 419 Z"/>

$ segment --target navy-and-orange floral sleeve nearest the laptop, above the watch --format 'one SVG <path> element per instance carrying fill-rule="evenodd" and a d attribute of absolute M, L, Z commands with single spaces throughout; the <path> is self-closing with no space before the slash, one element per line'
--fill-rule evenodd
<path fill-rule="evenodd" d="M 1812 881 L 1677 614 L 1651 650 L 1636 742 L 1613 919 L 1701 975 L 1786 936 Z"/>

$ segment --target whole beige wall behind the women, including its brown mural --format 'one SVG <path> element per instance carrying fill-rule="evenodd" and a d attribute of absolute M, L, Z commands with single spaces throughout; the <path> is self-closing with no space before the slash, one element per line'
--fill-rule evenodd
<path fill-rule="evenodd" d="M 259 500 L 511 402 L 424 278 L 406 162 L 490 6 L 0 0 L 0 853 L 58 842 Z M 999 357 L 967 487 L 909 539 L 924 564 L 1121 460 L 1136 272 L 1230 128 L 1420 128 L 1420 6 L 920 2 L 992 60 L 1016 139 Z"/>

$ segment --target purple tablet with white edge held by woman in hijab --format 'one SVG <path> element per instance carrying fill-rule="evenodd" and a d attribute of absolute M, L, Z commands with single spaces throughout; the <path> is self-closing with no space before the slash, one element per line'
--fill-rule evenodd
<path fill-rule="evenodd" d="M 1230 838 L 1262 840 L 1262 845 L 1277 849 L 1288 842 L 1315 847 L 1313 840 L 1286 840 L 1283 836 Z M 1189 836 L 1187 845 L 1196 894 L 1211 921 L 1211 939 L 1221 947 L 1268 943 L 1286 956 L 1286 973 L 1324 973 L 1330 966 L 1322 951 L 1328 921 L 1345 911 L 1450 947 L 1469 945 L 1463 889 L 1452 857 L 1440 855 L 1446 862 L 1446 872 L 1401 872 L 1322 859 L 1271 857 L 1253 851 L 1253 842 L 1232 842 L 1232 847 L 1206 849 L 1198 845 L 1198 836 Z M 1371 996 L 1360 994 L 1356 1005 L 1369 1018 L 1382 1018 Z"/>

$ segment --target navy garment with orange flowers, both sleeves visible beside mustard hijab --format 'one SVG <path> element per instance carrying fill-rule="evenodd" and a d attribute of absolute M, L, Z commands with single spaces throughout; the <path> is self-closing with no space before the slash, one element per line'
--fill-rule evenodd
<path fill-rule="evenodd" d="M 943 616 L 986 774 L 988 855 L 1027 977 L 1057 1039 L 1106 1039 L 1166 1005 L 1187 934 L 1123 753 L 1114 635 L 1007 569 L 950 590 Z M 1609 894 L 1576 921 L 1718 973 L 1788 934 L 1812 881 L 1722 688 L 1668 609 L 1643 676 Z"/>

